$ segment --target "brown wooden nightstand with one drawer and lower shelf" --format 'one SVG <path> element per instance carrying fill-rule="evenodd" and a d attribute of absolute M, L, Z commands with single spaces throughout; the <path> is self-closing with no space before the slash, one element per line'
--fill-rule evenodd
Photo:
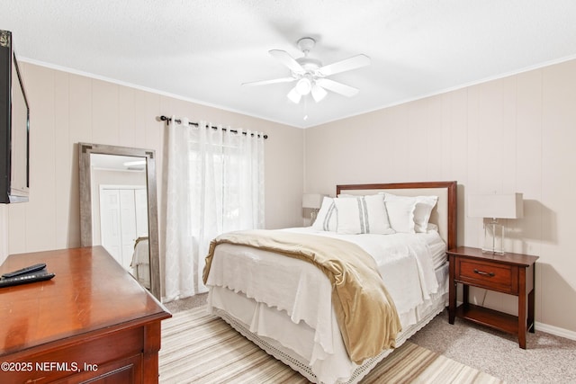
<path fill-rule="evenodd" d="M 491 326 L 518 335 L 520 348 L 526 349 L 527 331 L 534 333 L 534 271 L 538 256 L 499 255 L 468 246 L 450 249 L 447 254 L 450 261 L 450 324 L 454 324 L 455 317 L 462 317 Z M 456 307 L 458 283 L 463 284 L 463 304 Z M 471 304 L 468 301 L 471 286 L 518 296 L 518 316 Z"/>

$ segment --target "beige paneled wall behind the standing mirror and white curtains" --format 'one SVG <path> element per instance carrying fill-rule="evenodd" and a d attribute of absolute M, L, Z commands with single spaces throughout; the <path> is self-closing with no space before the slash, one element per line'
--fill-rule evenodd
<path fill-rule="evenodd" d="M 266 227 L 302 225 L 302 129 L 30 63 L 21 67 L 31 104 L 31 193 L 27 203 L 0 204 L 0 263 L 6 255 L 80 245 L 78 142 L 155 149 L 162 218 L 166 125 L 156 118 L 163 114 L 265 132 Z"/>

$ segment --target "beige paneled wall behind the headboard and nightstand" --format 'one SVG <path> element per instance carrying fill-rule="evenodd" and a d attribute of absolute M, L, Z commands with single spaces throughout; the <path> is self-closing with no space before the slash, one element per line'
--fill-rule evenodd
<path fill-rule="evenodd" d="M 404 103 L 305 131 L 305 182 L 459 183 L 459 245 L 482 246 L 471 193 L 523 192 L 508 250 L 539 255 L 536 320 L 576 337 L 576 60 Z M 482 301 L 484 291 L 475 291 Z M 514 297 L 485 304 L 515 312 Z"/>

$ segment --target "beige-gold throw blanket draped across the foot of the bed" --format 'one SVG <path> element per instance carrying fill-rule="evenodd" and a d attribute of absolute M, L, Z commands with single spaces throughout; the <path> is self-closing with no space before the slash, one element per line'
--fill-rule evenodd
<path fill-rule="evenodd" d="M 371 255 L 332 237 L 276 230 L 231 232 L 211 241 L 202 279 L 206 283 L 216 246 L 252 246 L 316 265 L 332 283 L 332 304 L 350 360 L 360 364 L 395 346 L 400 317 Z"/>

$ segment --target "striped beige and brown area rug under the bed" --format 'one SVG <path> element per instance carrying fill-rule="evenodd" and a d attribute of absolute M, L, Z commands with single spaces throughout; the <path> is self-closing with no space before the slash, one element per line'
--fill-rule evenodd
<path fill-rule="evenodd" d="M 177 312 L 162 322 L 160 383 L 308 383 L 205 308 Z M 361 383 L 473 383 L 502 381 L 406 342 Z"/>

